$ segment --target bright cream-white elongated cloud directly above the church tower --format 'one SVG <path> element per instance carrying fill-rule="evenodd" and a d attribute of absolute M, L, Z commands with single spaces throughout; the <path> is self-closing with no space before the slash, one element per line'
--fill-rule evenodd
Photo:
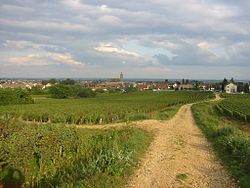
<path fill-rule="evenodd" d="M 112 53 L 112 54 L 117 54 L 117 55 L 122 55 L 122 56 L 130 56 L 134 58 L 143 58 L 143 56 L 138 53 L 130 52 L 130 51 L 124 50 L 123 48 L 116 47 L 112 43 L 101 42 L 99 46 L 94 49 L 97 52 L 102 52 L 102 53 Z"/>

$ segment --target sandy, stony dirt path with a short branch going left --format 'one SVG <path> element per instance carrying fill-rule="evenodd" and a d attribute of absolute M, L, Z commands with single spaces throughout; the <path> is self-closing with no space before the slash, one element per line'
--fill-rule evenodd
<path fill-rule="evenodd" d="M 215 100 L 219 100 L 218 96 Z M 156 136 L 142 159 L 141 168 L 126 187 L 236 187 L 197 128 L 191 104 L 182 106 L 169 121 L 146 120 L 137 122 L 136 126 L 153 130 Z M 110 125 L 88 127 L 105 129 Z"/>

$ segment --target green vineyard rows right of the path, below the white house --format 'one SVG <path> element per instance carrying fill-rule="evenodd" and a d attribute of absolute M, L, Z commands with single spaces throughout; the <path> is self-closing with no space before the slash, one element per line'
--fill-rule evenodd
<path fill-rule="evenodd" d="M 216 108 L 229 117 L 250 122 L 250 95 L 249 94 L 223 94 L 225 100 L 216 105 Z"/>

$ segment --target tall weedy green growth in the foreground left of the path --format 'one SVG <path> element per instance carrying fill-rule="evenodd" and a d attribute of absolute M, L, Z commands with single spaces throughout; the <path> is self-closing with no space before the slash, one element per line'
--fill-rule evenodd
<path fill-rule="evenodd" d="M 152 133 L 0 122 L 0 182 L 25 187 L 119 187 L 139 165 Z"/>

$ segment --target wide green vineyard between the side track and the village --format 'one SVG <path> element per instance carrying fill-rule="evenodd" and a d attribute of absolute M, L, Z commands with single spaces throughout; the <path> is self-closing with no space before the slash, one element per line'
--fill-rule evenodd
<path fill-rule="evenodd" d="M 107 124 L 168 116 L 172 107 L 213 98 L 209 92 L 100 94 L 88 99 L 37 98 L 35 104 L 0 106 L 3 119 L 64 124 Z"/>

